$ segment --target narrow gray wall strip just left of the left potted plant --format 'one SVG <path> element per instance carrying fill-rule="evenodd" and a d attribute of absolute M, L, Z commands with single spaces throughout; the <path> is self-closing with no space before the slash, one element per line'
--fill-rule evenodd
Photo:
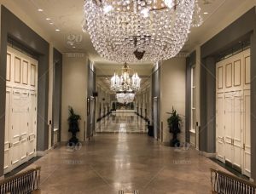
<path fill-rule="evenodd" d="M 54 48 L 53 53 L 53 105 L 52 105 L 52 127 L 59 128 L 58 141 L 61 141 L 61 88 L 62 88 L 62 54 Z M 52 128 L 52 145 L 53 145 Z"/>

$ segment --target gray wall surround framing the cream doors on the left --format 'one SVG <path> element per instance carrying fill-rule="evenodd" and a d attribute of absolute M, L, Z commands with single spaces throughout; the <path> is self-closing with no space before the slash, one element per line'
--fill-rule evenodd
<path fill-rule="evenodd" d="M 8 37 L 15 39 L 38 55 L 38 135 L 37 150 L 48 148 L 48 82 L 49 43 L 26 26 L 3 5 L 1 6 L 0 36 L 0 176 L 3 175 L 3 146 L 5 126 L 6 54 Z"/>

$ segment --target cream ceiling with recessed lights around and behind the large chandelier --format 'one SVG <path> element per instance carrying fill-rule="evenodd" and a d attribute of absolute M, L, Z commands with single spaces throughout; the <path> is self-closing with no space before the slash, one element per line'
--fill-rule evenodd
<path fill-rule="evenodd" d="M 23 20 L 32 20 L 34 24 L 37 24 L 38 29 L 40 29 L 38 32 L 47 35 L 49 43 L 52 43 L 62 53 L 80 52 L 88 54 L 90 60 L 96 65 L 98 77 L 102 77 L 98 79 L 98 82 L 105 85 L 107 89 L 109 88 L 109 77 L 113 75 L 113 71 L 119 71 L 121 65 L 102 59 L 93 48 L 89 34 L 82 31 L 84 0 L 4 1 L 6 4 L 12 3 L 19 8 L 26 15 Z M 256 5 L 256 0 L 198 1 L 204 23 L 198 28 L 190 29 L 188 41 L 182 49 L 184 53 L 190 53 L 196 46 L 206 42 L 218 31 L 224 29 L 225 26 Z M 38 9 L 44 11 L 39 12 Z M 55 31 L 56 29 L 60 31 Z M 152 64 L 129 65 L 141 77 L 149 77 L 152 72 Z"/>

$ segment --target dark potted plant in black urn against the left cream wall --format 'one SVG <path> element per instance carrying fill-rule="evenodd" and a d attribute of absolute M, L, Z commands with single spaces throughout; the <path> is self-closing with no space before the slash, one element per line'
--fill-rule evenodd
<path fill-rule="evenodd" d="M 70 144 L 77 144 L 79 139 L 77 138 L 76 134 L 79 132 L 79 120 L 81 117 L 73 111 L 73 107 L 68 107 L 69 117 L 68 121 L 68 132 L 72 133 L 72 138 L 69 140 Z"/>

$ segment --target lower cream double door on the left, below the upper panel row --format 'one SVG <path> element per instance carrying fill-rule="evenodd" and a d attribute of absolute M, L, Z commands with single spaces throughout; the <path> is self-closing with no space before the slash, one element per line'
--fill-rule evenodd
<path fill-rule="evenodd" d="M 4 173 L 36 156 L 37 96 L 35 91 L 7 88 Z"/>

